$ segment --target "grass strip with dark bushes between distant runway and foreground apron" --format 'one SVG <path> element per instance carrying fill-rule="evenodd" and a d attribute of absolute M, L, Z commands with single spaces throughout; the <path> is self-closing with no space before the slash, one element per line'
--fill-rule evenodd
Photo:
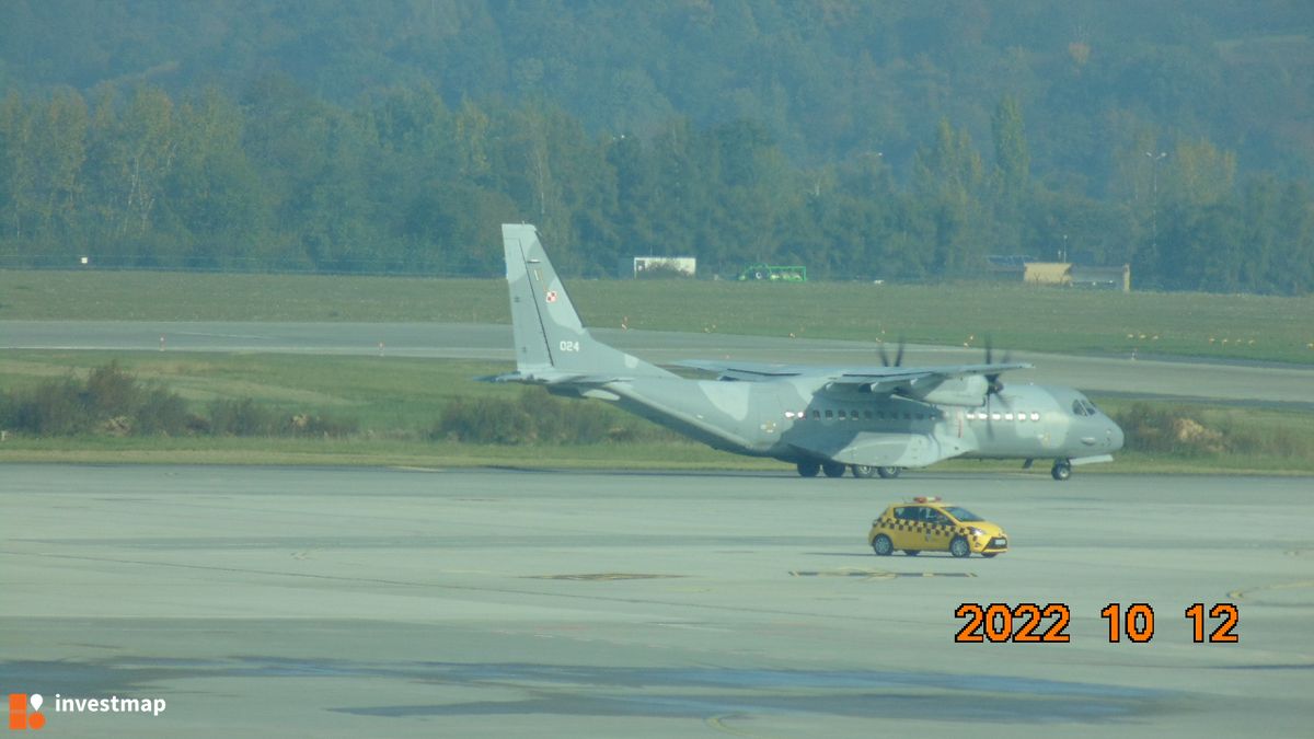
<path fill-rule="evenodd" d="M 9 351 L 0 354 L 0 388 L 22 392 L 50 379 L 83 377 L 92 367 L 110 360 L 117 360 L 143 383 L 177 392 L 194 409 L 212 400 L 250 397 L 286 416 L 310 413 L 351 418 L 359 422 L 359 431 L 344 439 L 9 435 L 0 442 L 0 462 L 787 469 L 771 460 L 716 452 L 656 427 L 640 441 L 624 443 L 502 446 L 430 441 L 444 405 L 452 398 L 515 398 L 522 392 L 540 392 L 472 381 L 472 377 L 505 370 L 489 363 L 378 356 Z M 1116 417 L 1129 413 L 1133 406 L 1129 400 L 1096 400 Z M 572 402 L 568 408 L 578 405 Z M 1196 447 L 1162 444 L 1163 448 L 1129 450 L 1117 455 L 1114 464 L 1093 465 L 1081 472 L 1314 473 L 1311 414 L 1181 404 L 1152 404 L 1152 408 L 1162 421 L 1189 417 L 1222 434 L 1222 441 L 1239 451 L 1213 451 L 1213 442 L 1208 439 Z M 606 412 L 614 414 L 618 425 L 645 423 L 615 409 L 606 408 Z M 950 462 L 934 469 L 1017 467 L 1016 462 Z M 1038 464 L 1035 473 L 1047 475 L 1047 465 Z"/>

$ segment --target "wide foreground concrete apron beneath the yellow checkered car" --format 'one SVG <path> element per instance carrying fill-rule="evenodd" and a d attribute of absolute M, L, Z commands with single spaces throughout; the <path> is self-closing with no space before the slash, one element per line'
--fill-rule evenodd
<path fill-rule="evenodd" d="M 0 686 L 50 736 L 1306 735 L 1311 489 L 7 464 Z M 937 493 L 1013 550 L 871 554 Z M 1070 642 L 955 643 L 962 604 L 1022 602 Z M 1152 638 L 1110 643 L 1137 602 Z M 1197 602 L 1239 642 L 1194 643 Z"/>

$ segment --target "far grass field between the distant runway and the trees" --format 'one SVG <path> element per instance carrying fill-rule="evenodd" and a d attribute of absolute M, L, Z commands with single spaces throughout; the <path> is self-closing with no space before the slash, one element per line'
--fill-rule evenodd
<path fill-rule="evenodd" d="M 568 280 L 591 326 L 1314 363 L 1314 296 Z M 501 280 L 0 271 L 0 320 L 506 323 Z"/>

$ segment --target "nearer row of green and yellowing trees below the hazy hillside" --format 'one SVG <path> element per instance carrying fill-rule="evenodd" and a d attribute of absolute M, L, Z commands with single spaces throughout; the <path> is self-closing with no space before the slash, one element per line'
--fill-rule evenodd
<path fill-rule="evenodd" d="M 1240 176 L 1208 138 L 1146 128 L 1106 147 L 1092 193 L 1077 171 L 1031 172 L 1018 97 L 989 124 L 976 142 L 941 118 L 903 166 L 876 150 L 804 166 L 754 120 L 590 131 L 540 97 L 449 107 L 426 83 L 351 104 L 280 74 L 238 95 L 11 91 L 0 266 L 493 276 L 498 224 L 527 221 L 586 276 L 657 254 L 704 275 L 962 279 L 1025 254 L 1130 263 L 1142 288 L 1314 287 L 1306 183 Z"/>

